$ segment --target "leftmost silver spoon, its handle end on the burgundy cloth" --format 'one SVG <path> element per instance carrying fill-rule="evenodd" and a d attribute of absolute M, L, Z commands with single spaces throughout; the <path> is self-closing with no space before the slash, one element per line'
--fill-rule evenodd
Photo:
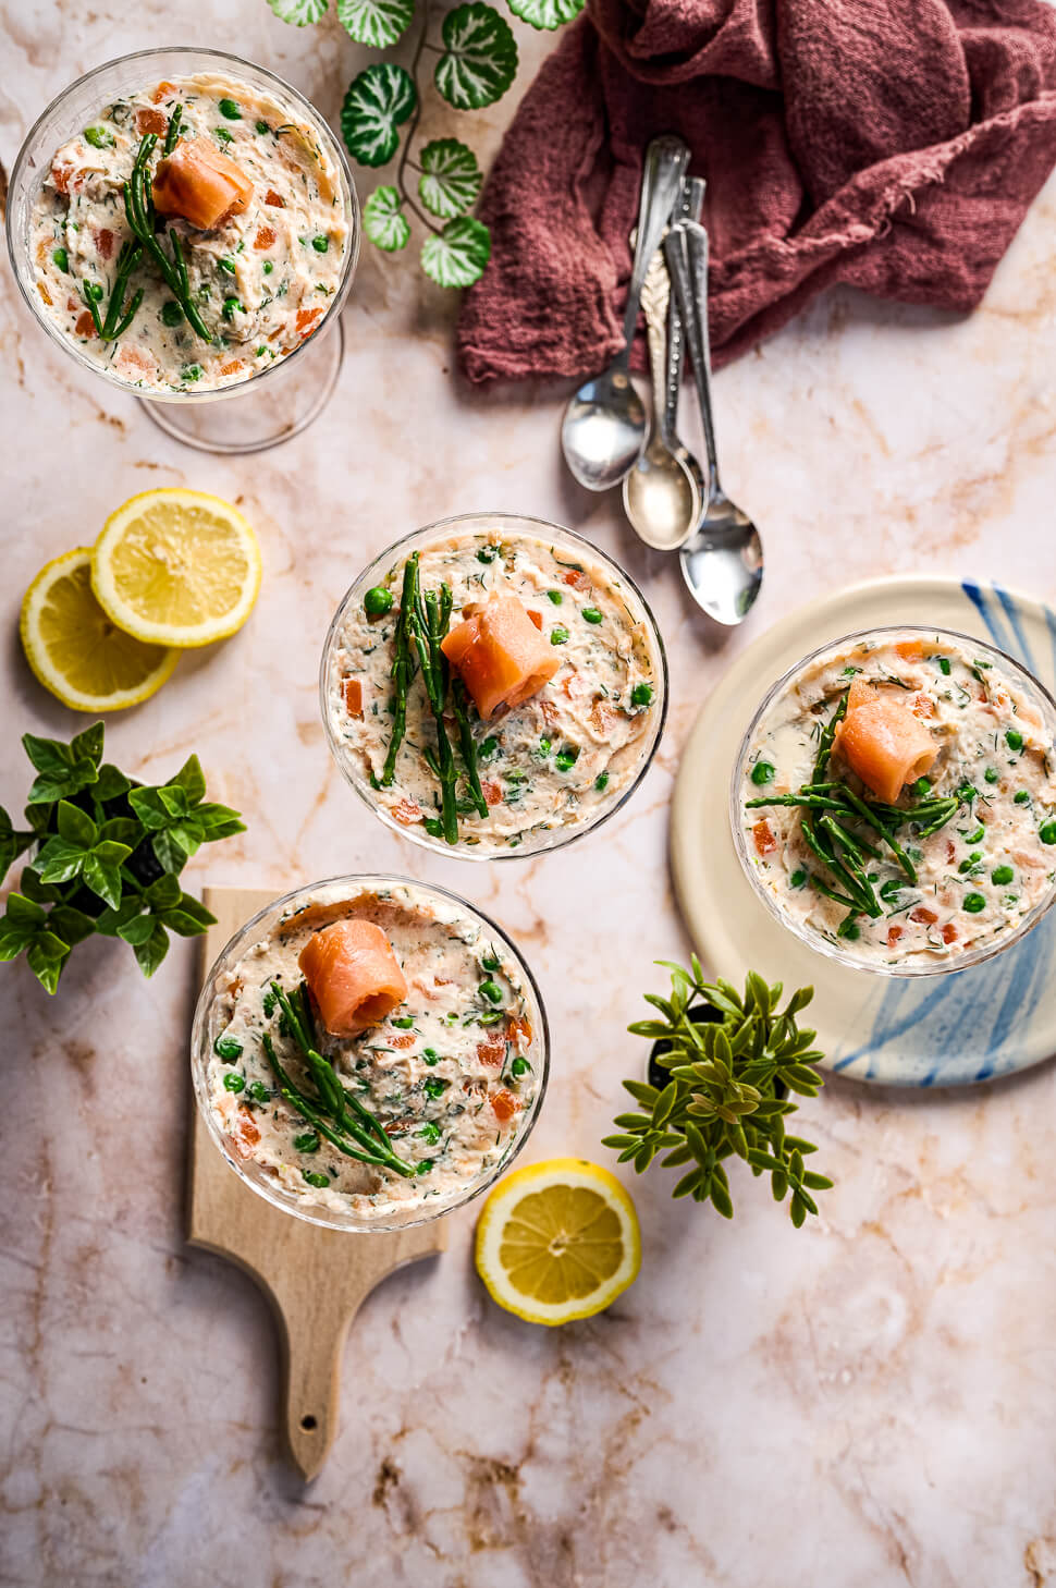
<path fill-rule="evenodd" d="M 661 246 L 688 164 L 689 149 L 681 138 L 654 138 L 645 151 L 638 241 L 624 313 L 624 346 L 605 373 L 584 381 L 565 408 L 561 446 L 568 468 L 588 491 L 608 491 L 619 484 L 645 443 L 645 403 L 627 373 L 630 343 L 638 322 L 645 273 Z"/>

